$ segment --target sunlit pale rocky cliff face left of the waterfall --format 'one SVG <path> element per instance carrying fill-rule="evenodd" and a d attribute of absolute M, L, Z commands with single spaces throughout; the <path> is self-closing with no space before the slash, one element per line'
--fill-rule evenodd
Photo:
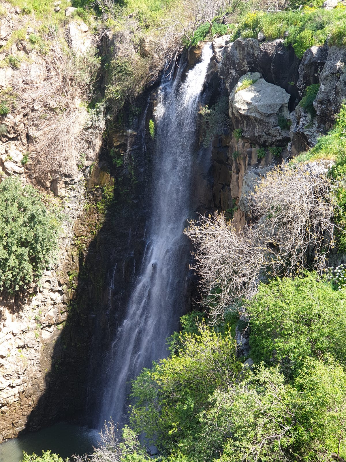
<path fill-rule="evenodd" d="M 57 260 L 45 271 L 40 283 L 32 286 L 24 298 L 0 296 L 0 442 L 17 436 L 25 426 L 30 427 L 30 414 L 50 387 L 52 370 L 59 369 L 57 356 L 60 355 L 60 361 L 63 357 L 61 352 L 57 353 L 57 349 L 63 350 L 59 339 L 74 298 L 79 269 L 75 230 L 81 223 L 87 202 L 84 183 L 90 176 L 90 166 L 95 166 L 94 174 L 100 170 L 97 161 L 101 147 L 101 136 L 96 134 L 92 143 L 85 145 L 83 162 L 79 156 L 73 159 L 65 175 L 54 174 L 54 171 L 47 175 L 37 174 L 38 146 L 58 129 L 54 125 L 59 117 L 57 107 L 73 108 L 76 134 L 84 127 L 86 109 L 74 96 L 72 99 L 61 97 L 64 76 L 54 73 L 59 69 L 54 68 L 54 63 L 62 59 L 60 50 L 47 46 L 45 53 L 40 53 L 29 40 L 34 32 L 32 18 L 19 14 L 20 9 L 10 4 L 5 7 L 7 13 L 0 18 L 0 60 L 15 55 L 17 61 L 15 65 L 0 68 L 0 181 L 16 176 L 23 184 L 31 183 L 41 191 L 44 201 L 60 208 L 65 219 Z M 66 30 L 71 47 L 79 47 L 75 50 L 77 53 L 85 52 L 92 42 L 88 27 L 83 24 L 79 20 L 72 21 Z M 78 29 L 78 33 L 72 33 L 73 28 Z M 18 30 L 25 30 L 24 36 L 12 40 Z M 57 137 L 63 134 L 57 132 Z M 108 182 L 109 178 L 108 175 Z M 97 217 L 88 228 L 88 242 L 90 233 L 95 233 L 95 226 Z M 72 339 L 76 338 L 75 333 L 70 334 Z M 83 367 L 85 370 L 87 366 L 80 351 L 72 352 L 71 358 L 70 366 L 73 363 L 80 374 L 71 381 L 73 390 L 74 382 L 77 388 L 83 387 Z M 72 377 L 72 369 L 69 375 Z M 73 394 L 77 397 L 77 390 L 72 391 L 71 396 Z M 81 402 L 75 404 L 74 410 L 82 408 Z M 70 399 L 66 400 L 65 412 L 69 405 Z M 51 412 L 54 419 L 54 409 L 46 411 Z M 42 423 L 43 416 L 42 409 Z"/>

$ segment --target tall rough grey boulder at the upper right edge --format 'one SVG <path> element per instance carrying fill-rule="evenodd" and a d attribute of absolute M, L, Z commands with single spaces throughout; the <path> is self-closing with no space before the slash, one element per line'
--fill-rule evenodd
<path fill-rule="evenodd" d="M 327 123 L 334 121 L 346 96 L 346 49 L 330 47 L 320 74 L 320 88 L 314 101 L 317 116 Z"/>

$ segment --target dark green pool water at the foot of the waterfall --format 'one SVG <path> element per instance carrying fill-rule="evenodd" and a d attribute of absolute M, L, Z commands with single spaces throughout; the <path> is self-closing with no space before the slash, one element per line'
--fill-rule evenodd
<path fill-rule="evenodd" d="M 20 462 L 23 451 L 42 456 L 42 450 L 50 449 L 62 458 L 72 454 L 92 452 L 97 444 L 98 432 L 86 427 L 60 422 L 38 432 L 25 433 L 20 438 L 9 439 L 0 444 L 0 462 Z"/>

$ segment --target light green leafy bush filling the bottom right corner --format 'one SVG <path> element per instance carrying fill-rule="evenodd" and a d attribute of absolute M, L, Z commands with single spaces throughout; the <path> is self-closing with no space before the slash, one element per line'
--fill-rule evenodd
<path fill-rule="evenodd" d="M 345 371 L 333 361 L 306 361 L 292 384 L 261 367 L 211 396 L 191 460 L 326 461 L 337 452 L 345 392 Z M 341 431 L 341 449 L 344 442 Z M 179 443 L 185 452 L 184 440 Z"/>

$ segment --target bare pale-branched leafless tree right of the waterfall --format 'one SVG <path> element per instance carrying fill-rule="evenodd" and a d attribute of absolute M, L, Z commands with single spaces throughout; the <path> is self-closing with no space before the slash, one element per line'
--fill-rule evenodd
<path fill-rule="evenodd" d="M 194 269 L 211 322 L 256 293 L 261 279 L 297 275 L 306 267 L 322 272 L 334 245 L 330 186 L 325 173 L 285 164 L 255 188 L 250 225 L 237 231 L 222 213 L 190 222 L 185 234 L 196 245 Z"/>

